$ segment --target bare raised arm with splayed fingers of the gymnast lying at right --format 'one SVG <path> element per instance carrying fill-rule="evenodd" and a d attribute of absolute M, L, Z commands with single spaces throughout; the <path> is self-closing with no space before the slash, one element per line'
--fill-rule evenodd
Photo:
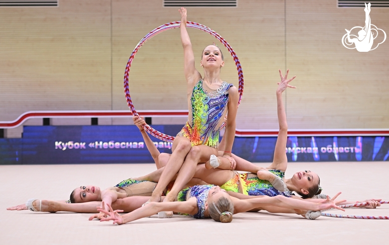
<path fill-rule="evenodd" d="M 282 75 L 281 70 L 278 71 L 281 77 L 281 82 L 278 83 L 278 88 L 276 90 L 279 131 L 276 146 L 274 148 L 273 163 L 268 168 L 285 171 L 288 164 L 285 154 L 286 140 L 288 139 L 288 123 L 286 121 L 285 107 L 282 101 L 282 92 L 284 92 L 286 88 L 296 88 L 289 85 L 289 82 L 295 79 L 296 76 L 288 79 L 289 69 L 286 71 L 285 77 Z"/>

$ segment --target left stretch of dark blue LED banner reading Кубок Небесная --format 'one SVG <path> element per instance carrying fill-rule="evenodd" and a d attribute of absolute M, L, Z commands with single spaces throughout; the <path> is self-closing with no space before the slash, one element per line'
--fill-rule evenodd
<path fill-rule="evenodd" d="M 182 125 L 153 125 L 176 135 Z M 172 143 L 150 135 L 160 152 Z M 21 139 L 0 139 L 1 164 L 152 163 L 138 127 L 133 125 L 24 126 Z"/>

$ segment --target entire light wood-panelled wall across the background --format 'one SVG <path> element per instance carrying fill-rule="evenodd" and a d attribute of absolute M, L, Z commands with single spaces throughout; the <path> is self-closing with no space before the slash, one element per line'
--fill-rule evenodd
<path fill-rule="evenodd" d="M 389 35 L 389 8 L 372 7 L 370 17 Z M 127 110 L 123 75 L 132 50 L 149 31 L 175 20 L 178 8 L 163 7 L 162 0 L 0 8 L 0 121 L 26 111 Z M 239 57 L 245 84 L 237 128 L 278 128 L 279 68 L 297 76 L 297 89 L 285 93 L 290 129 L 389 128 L 389 40 L 366 53 L 341 42 L 345 29 L 364 26 L 363 8 L 338 8 L 336 0 L 238 0 L 238 7 L 189 7 L 188 20 L 217 31 Z M 198 66 L 203 47 L 216 39 L 189 32 Z M 237 86 L 235 64 L 222 48 L 221 78 Z M 130 92 L 137 110 L 186 109 L 179 29 L 139 50 Z"/>

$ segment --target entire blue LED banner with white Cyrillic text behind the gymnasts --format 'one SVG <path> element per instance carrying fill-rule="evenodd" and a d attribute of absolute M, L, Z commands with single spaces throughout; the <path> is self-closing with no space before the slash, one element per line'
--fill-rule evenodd
<path fill-rule="evenodd" d="M 176 135 L 182 125 L 153 125 Z M 150 135 L 160 152 L 172 143 Z M 277 137 L 235 137 L 232 152 L 251 162 L 271 162 Z M 388 161 L 389 136 L 290 136 L 289 162 Z M 0 139 L 0 164 L 153 163 L 133 125 L 24 126 L 23 137 Z"/>

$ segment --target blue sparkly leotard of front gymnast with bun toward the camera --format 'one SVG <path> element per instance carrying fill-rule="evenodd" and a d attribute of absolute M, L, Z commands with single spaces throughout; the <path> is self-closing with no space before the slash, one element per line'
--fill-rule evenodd
<path fill-rule="evenodd" d="M 212 188 L 212 186 L 213 185 L 195 185 L 188 187 L 179 192 L 177 201 L 183 202 L 187 201 L 191 197 L 195 197 L 197 199 L 198 212 L 193 216 L 193 218 L 206 219 L 204 217 L 205 202 L 208 198 L 209 189 Z"/>

